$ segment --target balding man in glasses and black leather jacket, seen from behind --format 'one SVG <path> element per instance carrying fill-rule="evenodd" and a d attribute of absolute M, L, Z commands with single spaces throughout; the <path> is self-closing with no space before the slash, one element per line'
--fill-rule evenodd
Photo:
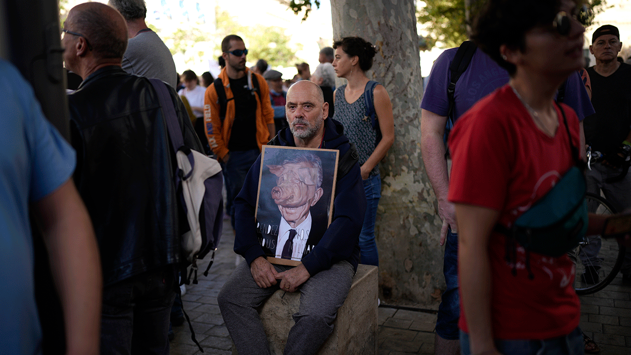
<path fill-rule="evenodd" d="M 69 105 L 74 179 L 102 262 L 101 354 L 168 354 L 180 238 L 175 156 L 160 101 L 148 79 L 121 68 L 127 27 L 115 9 L 75 6 L 62 45 L 66 67 L 83 78 Z M 168 90 L 185 143 L 201 151 L 184 105 Z"/>

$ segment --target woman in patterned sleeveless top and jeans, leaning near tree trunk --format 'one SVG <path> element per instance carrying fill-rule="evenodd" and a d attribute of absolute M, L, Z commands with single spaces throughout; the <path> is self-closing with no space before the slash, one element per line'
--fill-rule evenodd
<path fill-rule="evenodd" d="M 394 122 L 392 104 L 386 88 L 377 85 L 373 90 L 373 104 L 381 133 L 377 142 L 377 129 L 372 127 L 372 120 L 366 117 L 364 102 L 365 88 L 369 83 L 366 71 L 372 67 L 372 58 L 377 51 L 372 44 L 360 37 L 345 37 L 334 42 L 335 59 L 333 67 L 339 78 L 345 78 L 348 84 L 335 90 L 333 119 L 344 125 L 344 134 L 357 146 L 359 164 L 362 171 L 363 186 L 368 202 L 363 220 L 359 245 L 362 264 L 379 266 L 379 255 L 375 243 L 375 217 L 381 196 L 381 178 L 379 166 L 394 141 Z M 339 111 L 338 111 L 339 110 Z"/>

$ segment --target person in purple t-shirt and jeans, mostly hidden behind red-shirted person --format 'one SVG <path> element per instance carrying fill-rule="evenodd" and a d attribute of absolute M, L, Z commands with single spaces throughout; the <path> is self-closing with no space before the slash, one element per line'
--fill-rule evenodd
<path fill-rule="evenodd" d="M 459 310 L 457 280 L 457 230 L 454 205 L 447 201 L 449 190 L 449 169 L 451 160 L 445 159 L 445 128 L 447 123 L 449 99 L 447 87 L 451 80 L 449 66 L 456 56 L 457 48 L 442 52 L 433 64 L 428 78 L 427 89 L 421 104 L 421 152 L 425 171 L 438 200 L 439 215 L 443 221 L 440 231 L 440 245 L 445 244 L 443 273 L 447 289 L 442 294 L 436 322 L 435 354 L 459 354 L 459 331 L 457 327 Z M 475 51 L 468 68 L 460 76 L 454 92 L 453 121 L 473 104 L 478 102 L 496 88 L 504 86 L 509 75 L 504 68 L 498 66 L 493 59 L 482 51 Z M 587 95 L 579 73 L 571 75 L 565 83 L 563 102 L 576 111 L 579 120 L 594 113 L 594 108 Z M 584 135 L 581 122 L 581 146 L 584 146 Z M 584 155 L 584 152 L 582 152 Z"/>

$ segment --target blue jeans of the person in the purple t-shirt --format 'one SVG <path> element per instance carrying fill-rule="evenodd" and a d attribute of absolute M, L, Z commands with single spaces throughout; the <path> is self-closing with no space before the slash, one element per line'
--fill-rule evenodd
<path fill-rule="evenodd" d="M 458 234 L 447 230 L 445 257 L 442 263 L 447 289 L 442 299 L 436 319 L 436 334 L 442 339 L 457 340 L 459 337 L 460 296 L 458 295 Z"/>

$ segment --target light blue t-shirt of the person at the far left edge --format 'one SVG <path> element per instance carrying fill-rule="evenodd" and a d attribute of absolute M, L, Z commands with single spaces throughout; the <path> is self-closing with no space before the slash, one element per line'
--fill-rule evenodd
<path fill-rule="evenodd" d="M 33 293 L 33 245 L 28 206 L 68 181 L 73 148 L 45 119 L 33 90 L 0 60 L 0 352 L 41 352 Z"/>

